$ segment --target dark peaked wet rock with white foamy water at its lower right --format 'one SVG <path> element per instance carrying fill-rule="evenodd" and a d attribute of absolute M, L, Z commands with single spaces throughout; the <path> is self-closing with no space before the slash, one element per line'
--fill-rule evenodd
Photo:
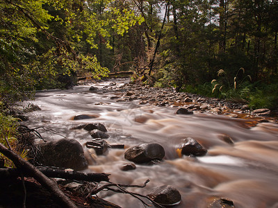
<path fill-rule="evenodd" d="M 204 156 L 206 152 L 207 150 L 191 137 L 184 139 L 181 146 L 181 154 L 183 155 Z"/>

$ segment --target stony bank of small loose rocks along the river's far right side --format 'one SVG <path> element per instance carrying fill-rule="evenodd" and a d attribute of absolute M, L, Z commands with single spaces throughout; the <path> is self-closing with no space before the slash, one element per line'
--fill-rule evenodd
<path fill-rule="evenodd" d="M 180 114 L 224 114 L 231 118 L 254 119 L 257 122 L 273 123 L 277 123 L 278 118 L 277 110 L 271 111 L 266 108 L 251 110 L 248 105 L 243 103 L 208 98 L 186 92 L 176 92 L 175 89 L 171 88 L 141 86 L 132 83 L 125 83 L 119 87 L 115 82 L 112 82 L 102 88 L 92 86 L 90 91 L 110 94 L 110 98 L 116 102 L 138 101 L 139 105 L 176 107 L 177 109 L 182 107 L 186 109 Z M 101 105 L 101 103 L 96 103 L 95 105 Z"/>

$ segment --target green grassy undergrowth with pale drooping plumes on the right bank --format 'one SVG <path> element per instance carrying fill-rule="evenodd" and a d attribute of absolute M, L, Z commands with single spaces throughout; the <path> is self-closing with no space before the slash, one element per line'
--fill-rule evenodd
<path fill-rule="evenodd" d="M 165 87 L 165 82 L 158 80 L 156 87 Z M 259 108 L 278 108 L 278 80 L 271 80 L 269 84 L 252 80 L 245 75 L 245 69 L 240 68 L 234 76 L 228 75 L 220 69 L 217 78 L 202 85 L 183 84 L 179 90 L 207 97 L 221 98 L 235 103 L 243 103 L 251 110 Z"/>

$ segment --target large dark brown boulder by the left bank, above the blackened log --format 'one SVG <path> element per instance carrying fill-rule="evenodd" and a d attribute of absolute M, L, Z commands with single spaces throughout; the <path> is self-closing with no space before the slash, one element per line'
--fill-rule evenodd
<path fill-rule="evenodd" d="M 84 151 L 75 139 L 60 139 L 39 145 L 41 157 L 38 162 L 44 166 L 72 168 L 76 171 L 88 168 Z"/>

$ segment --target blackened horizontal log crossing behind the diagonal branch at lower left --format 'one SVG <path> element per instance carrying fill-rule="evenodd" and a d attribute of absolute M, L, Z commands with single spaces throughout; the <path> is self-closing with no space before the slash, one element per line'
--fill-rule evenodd
<path fill-rule="evenodd" d="M 58 177 L 67 180 L 82 180 L 87 182 L 109 182 L 109 174 L 106 173 L 81 173 L 72 170 L 63 170 L 56 168 L 37 168 L 47 177 Z M 18 168 L 0 168 L 0 177 L 19 177 L 21 171 Z M 31 174 L 24 173 L 25 177 L 32 177 Z"/>

